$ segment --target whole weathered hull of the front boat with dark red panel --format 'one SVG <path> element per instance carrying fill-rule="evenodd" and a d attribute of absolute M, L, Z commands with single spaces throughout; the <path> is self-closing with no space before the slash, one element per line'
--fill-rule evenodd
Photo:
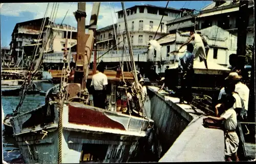
<path fill-rule="evenodd" d="M 26 163 L 58 160 L 58 104 L 49 103 L 52 91 L 46 93 L 46 105 L 12 119 Z M 148 121 L 153 122 L 78 102 L 65 103 L 62 115 L 63 163 L 129 161 L 146 135 Z"/>

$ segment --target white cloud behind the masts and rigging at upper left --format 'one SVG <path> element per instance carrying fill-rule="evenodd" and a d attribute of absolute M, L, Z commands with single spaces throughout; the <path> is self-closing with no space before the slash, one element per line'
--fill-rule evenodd
<path fill-rule="evenodd" d="M 45 11 L 48 3 L 7 3 L 4 4 L 1 8 L 1 15 L 5 16 L 22 16 L 24 12 L 32 13 L 33 17 L 30 19 L 39 19 L 44 17 Z M 88 25 L 90 22 L 91 12 L 92 12 L 93 3 L 86 3 L 86 24 Z M 49 3 L 49 9 L 47 16 L 50 17 L 51 11 L 53 8 L 53 3 Z M 70 24 L 72 26 L 76 26 L 77 22 L 75 20 L 73 12 L 77 10 L 77 3 L 59 3 L 58 12 L 56 15 L 56 23 L 60 23 L 65 17 L 66 12 L 69 10 L 65 20 L 63 23 Z M 115 7 L 115 11 L 121 10 L 121 7 Z M 116 23 L 116 17 L 114 14 L 113 7 L 109 6 L 109 3 L 101 3 L 99 10 L 99 19 L 98 19 L 98 27 L 102 28 L 107 25 L 113 24 L 112 15 L 114 17 L 114 22 Z M 11 21 L 11 18 L 10 18 Z"/>

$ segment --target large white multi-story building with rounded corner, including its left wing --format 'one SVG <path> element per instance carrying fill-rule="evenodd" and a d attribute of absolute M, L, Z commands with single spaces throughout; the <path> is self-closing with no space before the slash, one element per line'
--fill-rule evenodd
<path fill-rule="evenodd" d="M 181 17 L 183 11 L 183 9 L 165 9 L 164 7 L 152 5 L 136 5 L 126 9 L 127 24 L 131 35 L 130 39 L 136 64 L 138 62 L 143 63 L 148 61 L 146 53 L 148 41 L 164 36 L 166 34 L 165 24 L 167 21 Z M 119 60 L 129 61 L 129 52 L 125 51 L 125 49 L 128 49 L 128 42 L 123 11 L 118 11 L 117 14 L 118 20 L 115 24 L 117 40 L 115 40 L 113 25 L 97 30 L 97 56 L 101 56 L 107 50 L 113 48 L 113 50 L 98 59 L 99 61 L 102 60 L 103 62 L 117 64 L 119 63 Z M 163 19 L 161 21 L 162 17 Z M 116 43 L 119 43 L 119 51 L 116 50 L 116 47 L 113 47 Z M 91 62 L 93 62 L 93 60 L 94 56 L 92 56 Z"/>

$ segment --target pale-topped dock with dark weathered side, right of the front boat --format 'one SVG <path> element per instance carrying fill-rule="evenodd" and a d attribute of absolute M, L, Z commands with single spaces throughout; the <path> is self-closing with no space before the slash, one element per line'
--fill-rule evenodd
<path fill-rule="evenodd" d="M 151 119 L 160 136 L 162 154 L 159 162 L 225 161 L 224 132 L 205 128 L 203 111 L 179 104 L 179 98 L 158 93 L 157 87 L 148 87 L 151 97 Z"/>

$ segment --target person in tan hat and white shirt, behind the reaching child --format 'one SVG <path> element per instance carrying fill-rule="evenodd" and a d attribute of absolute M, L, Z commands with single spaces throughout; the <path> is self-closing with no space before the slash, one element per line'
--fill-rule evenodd
<path fill-rule="evenodd" d="M 242 98 L 244 102 L 245 112 L 242 114 L 242 119 L 246 119 L 248 113 L 248 101 L 249 101 L 249 88 L 241 83 L 242 76 L 238 75 L 237 72 L 229 73 L 228 77 L 225 80 L 229 81 L 229 83 L 233 83 L 235 85 L 234 92 L 237 92 L 238 95 Z M 227 82 L 228 83 L 228 82 Z M 225 95 L 225 88 L 220 90 L 219 99 L 221 99 L 222 95 Z"/>

